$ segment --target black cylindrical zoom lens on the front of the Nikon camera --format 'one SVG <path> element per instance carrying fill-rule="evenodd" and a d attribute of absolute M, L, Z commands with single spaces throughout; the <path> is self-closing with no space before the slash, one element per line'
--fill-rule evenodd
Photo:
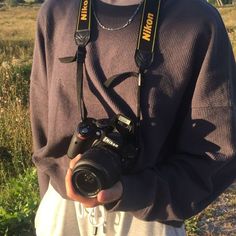
<path fill-rule="evenodd" d="M 72 185 L 78 194 L 94 198 L 102 189 L 116 183 L 120 174 L 120 158 L 115 153 L 92 148 L 76 163 L 72 173 Z"/>

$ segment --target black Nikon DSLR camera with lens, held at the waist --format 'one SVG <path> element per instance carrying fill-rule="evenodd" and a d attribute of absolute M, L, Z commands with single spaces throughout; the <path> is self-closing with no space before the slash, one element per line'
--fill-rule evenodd
<path fill-rule="evenodd" d="M 134 123 L 123 115 L 113 119 L 86 118 L 80 122 L 67 152 L 82 154 L 72 173 L 74 190 L 88 198 L 113 186 L 127 173 L 137 156 Z"/>

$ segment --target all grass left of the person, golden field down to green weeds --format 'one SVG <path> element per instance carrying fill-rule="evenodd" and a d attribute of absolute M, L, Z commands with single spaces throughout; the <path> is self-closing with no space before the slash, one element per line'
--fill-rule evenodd
<path fill-rule="evenodd" d="M 29 76 L 38 7 L 0 8 L 0 235 L 33 236 Z M 27 191 L 26 191 L 27 190 Z"/>

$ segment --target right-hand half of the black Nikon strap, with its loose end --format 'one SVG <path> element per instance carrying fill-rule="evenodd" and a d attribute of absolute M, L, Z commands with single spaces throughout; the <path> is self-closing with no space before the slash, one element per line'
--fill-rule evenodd
<path fill-rule="evenodd" d="M 139 68 L 139 72 L 124 72 L 108 78 L 104 85 L 114 87 L 118 81 L 122 81 L 128 77 L 135 76 L 138 79 L 137 90 L 137 126 L 141 121 L 141 87 L 145 71 L 152 65 L 154 59 L 154 50 L 157 36 L 157 24 L 161 0 L 144 0 L 142 17 L 139 27 L 137 46 L 135 51 L 135 62 Z"/>

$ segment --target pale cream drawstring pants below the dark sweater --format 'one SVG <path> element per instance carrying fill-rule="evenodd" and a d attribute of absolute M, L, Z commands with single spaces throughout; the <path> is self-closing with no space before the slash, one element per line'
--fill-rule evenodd
<path fill-rule="evenodd" d="M 97 227 L 93 226 L 97 224 Z M 63 199 L 49 185 L 35 218 L 37 236 L 185 236 L 184 227 L 145 222 L 129 213 L 108 213 L 104 208 L 84 209 Z"/>

